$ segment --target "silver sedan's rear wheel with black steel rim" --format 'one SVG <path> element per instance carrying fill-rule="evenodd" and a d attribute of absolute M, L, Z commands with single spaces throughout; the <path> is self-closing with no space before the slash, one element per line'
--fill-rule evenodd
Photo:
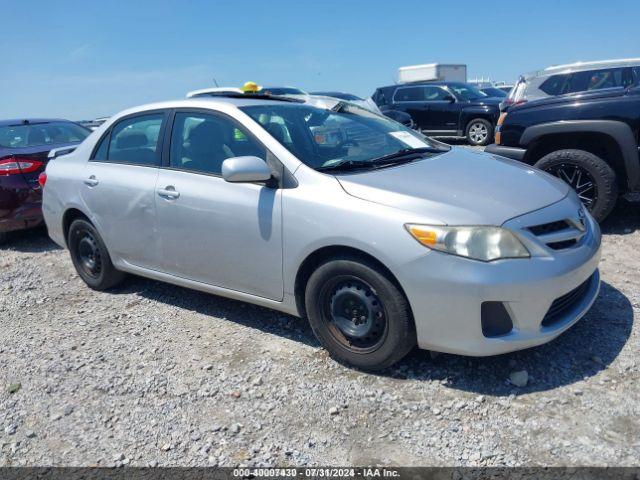
<path fill-rule="evenodd" d="M 89 287 L 107 290 L 124 280 L 125 274 L 113 266 L 102 237 L 88 220 L 73 221 L 67 245 L 73 266 Z"/>

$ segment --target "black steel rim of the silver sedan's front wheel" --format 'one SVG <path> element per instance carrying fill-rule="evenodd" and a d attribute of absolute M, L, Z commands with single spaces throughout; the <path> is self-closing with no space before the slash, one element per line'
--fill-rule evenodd
<path fill-rule="evenodd" d="M 320 293 L 322 320 L 343 347 L 370 353 L 382 345 L 388 331 L 387 314 L 367 282 L 350 275 L 327 282 Z"/>

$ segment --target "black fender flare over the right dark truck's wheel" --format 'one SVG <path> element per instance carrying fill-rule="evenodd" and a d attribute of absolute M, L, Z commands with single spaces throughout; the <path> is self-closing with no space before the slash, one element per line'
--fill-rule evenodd
<path fill-rule="evenodd" d="M 534 140 L 558 133 L 592 132 L 604 133 L 613 138 L 622 152 L 627 182 L 630 190 L 640 186 L 640 159 L 638 145 L 629 125 L 615 120 L 561 120 L 527 127 L 520 144 L 525 148 Z"/>

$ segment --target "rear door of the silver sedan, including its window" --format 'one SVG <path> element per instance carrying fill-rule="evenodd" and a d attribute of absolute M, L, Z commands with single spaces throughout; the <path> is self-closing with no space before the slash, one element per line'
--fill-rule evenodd
<path fill-rule="evenodd" d="M 81 188 L 112 257 L 146 268 L 159 262 L 155 184 L 166 117 L 151 111 L 116 122 L 87 162 Z"/>

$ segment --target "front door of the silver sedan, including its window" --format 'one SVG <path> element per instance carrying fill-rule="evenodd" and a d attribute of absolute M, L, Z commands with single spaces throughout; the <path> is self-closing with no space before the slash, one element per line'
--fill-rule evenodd
<path fill-rule="evenodd" d="M 161 270 L 272 300 L 283 297 L 281 193 L 228 183 L 222 162 L 266 149 L 229 117 L 178 111 L 156 183 Z"/>

